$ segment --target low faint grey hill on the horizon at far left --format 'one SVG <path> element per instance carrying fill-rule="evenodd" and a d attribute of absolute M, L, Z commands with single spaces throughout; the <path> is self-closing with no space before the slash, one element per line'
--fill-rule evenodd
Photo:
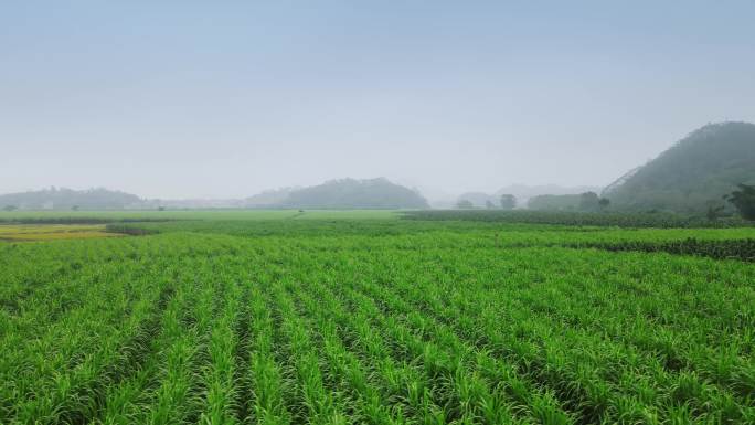
<path fill-rule="evenodd" d="M 39 191 L 0 195 L 0 209 L 20 210 L 123 210 L 139 204 L 135 194 L 103 188 L 88 190 L 43 189 Z"/>

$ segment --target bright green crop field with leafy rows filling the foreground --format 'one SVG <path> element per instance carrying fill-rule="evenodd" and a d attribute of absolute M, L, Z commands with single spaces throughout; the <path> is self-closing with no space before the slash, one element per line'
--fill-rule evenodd
<path fill-rule="evenodd" d="M 150 233 L 0 242 L 0 424 L 755 423 L 754 227 L 403 216 L 0 214 Z"/>

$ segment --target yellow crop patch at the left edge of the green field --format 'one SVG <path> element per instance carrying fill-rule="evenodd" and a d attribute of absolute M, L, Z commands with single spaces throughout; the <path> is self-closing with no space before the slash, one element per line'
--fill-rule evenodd
<path fill-rule="evenodd" d="M 104 224 L 0 224 L 0 241 L 55 241 L 92 237 L 117 237 L 105 232 Z"/>

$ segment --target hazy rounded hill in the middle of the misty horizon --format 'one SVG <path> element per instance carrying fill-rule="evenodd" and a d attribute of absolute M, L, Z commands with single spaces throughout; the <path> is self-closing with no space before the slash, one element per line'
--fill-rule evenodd
<path fill-rule="evenodd" d="M 288 193 L 284 193 L 288 191 Z M 358 209 L 426 209 L 427 201 L 417 192 L 394 184 L 386 179 L 354 180 L 341 179 L 326 183 L 267 192 L 251 200 L 273 200 L 275 202 L 253 206 L 312 210 L 358 210 Z M 285 194 L 285 196 L 283 196 Z M 281 195 L 283 199 L 276 198 Z"/>

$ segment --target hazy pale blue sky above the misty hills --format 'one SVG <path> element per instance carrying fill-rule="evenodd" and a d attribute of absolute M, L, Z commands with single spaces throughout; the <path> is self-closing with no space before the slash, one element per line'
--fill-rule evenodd
<path fill-rule="evenodd" d="M 2 1 L 0 193 L 604 185 L 706 123 L 755 121 L 754 18 L 753 1 Z"/>

